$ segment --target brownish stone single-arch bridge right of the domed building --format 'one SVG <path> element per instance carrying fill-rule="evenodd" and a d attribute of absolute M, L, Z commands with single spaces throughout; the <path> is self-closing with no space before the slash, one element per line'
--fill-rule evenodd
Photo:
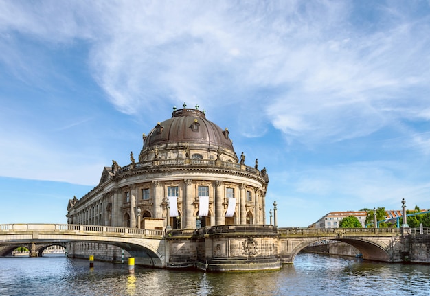
<path fill-rule="evenodd" d="M 409 228 L 280 228 L 278 234 L 278 255 L 284 263 L 293 263 L 295 255 L 304 247 L 323 240 L 346 242 L 368 260 L 403 262 L 409 256 Z"/>

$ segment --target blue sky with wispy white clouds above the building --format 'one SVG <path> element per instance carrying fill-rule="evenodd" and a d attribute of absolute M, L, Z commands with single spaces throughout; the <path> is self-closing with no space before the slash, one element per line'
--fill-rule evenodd
<path fill-rule="evenodd" d="M 430 208 L 430 1 L 0 0 L 0 224 L 67 223 L 199 105 L 267 168 L 267 223 Z"/>

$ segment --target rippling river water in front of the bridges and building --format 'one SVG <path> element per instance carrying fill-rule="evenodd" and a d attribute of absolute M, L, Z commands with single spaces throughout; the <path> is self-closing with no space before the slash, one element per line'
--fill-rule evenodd
<path fill-rule="evenodd" d="M 203 273 L 69 259 L 0 258 L 0 295 L 430 295 L 430 266 L 299 253 L 281 271 Z"/>

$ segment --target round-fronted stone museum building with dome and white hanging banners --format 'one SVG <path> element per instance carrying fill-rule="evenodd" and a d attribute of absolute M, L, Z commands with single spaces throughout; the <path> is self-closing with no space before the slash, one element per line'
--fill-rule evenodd
<path fill-rule="evenodd" d="M 105 167 L 100 183 L 67 207 L 69 224 L 198 229 L 265 224 L 269 178 L 245 164 L 229 130 L 205 111 L 175 109 L 170 119 L 143 135 L 137 161 Z"/>

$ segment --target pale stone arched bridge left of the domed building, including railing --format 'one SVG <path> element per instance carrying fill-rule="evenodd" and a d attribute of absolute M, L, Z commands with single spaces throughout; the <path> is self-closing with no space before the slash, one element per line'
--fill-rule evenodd
<path fill-rule="evenodd" d="M 32 255 L 41 255 L 52 245 L 65 247 L 67 242 L 100 242 L 120 247 L 136 258 L 136 264 L 165 267 L 164 231 L 70 224 L 0 225 L 0 256 L 10 255 L 17 247 L 27 247 Z M 167 259 L 167 260 L 166 260 Z"/>

